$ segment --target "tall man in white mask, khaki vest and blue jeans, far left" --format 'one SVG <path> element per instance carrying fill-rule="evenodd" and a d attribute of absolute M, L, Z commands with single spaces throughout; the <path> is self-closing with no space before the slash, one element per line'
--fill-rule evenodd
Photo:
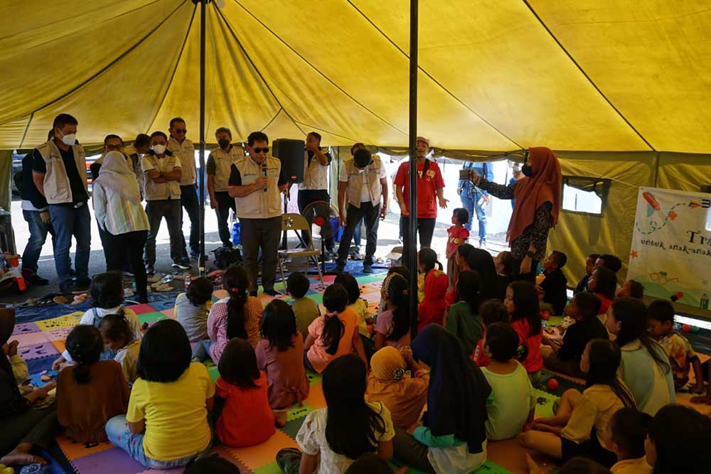
<path fill-rule="evenodd" d="M 59 114 L 54 119 L 54 138 L 33 151 L 32 181 L 46 198 L 56 235 L 55 267 L 60 289 L 84 289 L 90 284 L 91 216 L 84 149 L 77 142 L 77 119 Z M 70 276 L 69 249 L 77 241 L 76 281 Z"/>

